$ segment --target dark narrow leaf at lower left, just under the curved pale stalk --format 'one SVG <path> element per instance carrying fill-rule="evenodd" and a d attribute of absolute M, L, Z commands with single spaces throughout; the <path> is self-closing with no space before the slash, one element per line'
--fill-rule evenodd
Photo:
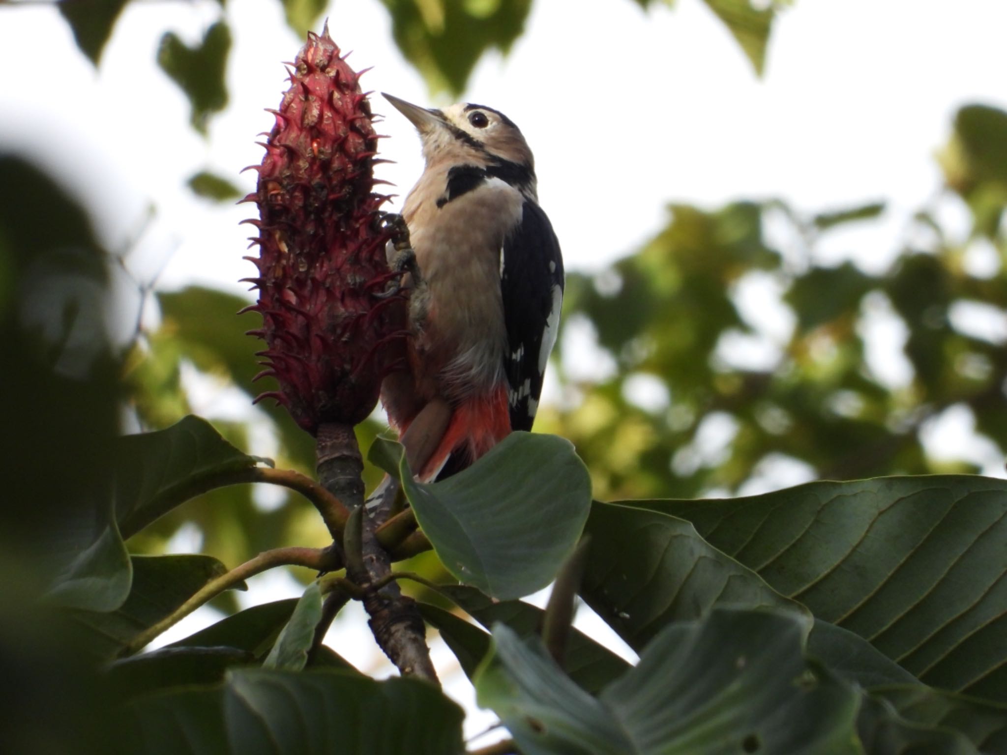
<path fill-rule="evenodd" d="M 109 666 L 109 681 L 120 699 L 169 687 L 211 685 L 235 665 L 255 661 L 252 653 L 234 647 L 163 647 Z"/>

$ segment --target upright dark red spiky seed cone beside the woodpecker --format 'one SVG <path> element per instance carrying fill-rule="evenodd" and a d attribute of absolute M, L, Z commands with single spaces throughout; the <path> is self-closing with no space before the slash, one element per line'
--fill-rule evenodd
<path fill-rule="evenodd" d="M 382 299 L 391 278 L 389 234 L 376 216 L 378 136 L 359 74 L 328 34 L 308 34 L 265 145 L 258 190 L 260 355 L 283 404 L 314 434 L 374 410 L 398 355 L 404 299 Z"/>

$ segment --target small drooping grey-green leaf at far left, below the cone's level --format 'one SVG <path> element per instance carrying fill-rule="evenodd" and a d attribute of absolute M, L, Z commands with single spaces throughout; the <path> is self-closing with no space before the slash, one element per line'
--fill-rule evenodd
<path fill-rule="evenodd" d="M 133 568 L 115 522 L 56 577 L 45 600 L 64 608 L 114 611 L 129 597 Z"/>

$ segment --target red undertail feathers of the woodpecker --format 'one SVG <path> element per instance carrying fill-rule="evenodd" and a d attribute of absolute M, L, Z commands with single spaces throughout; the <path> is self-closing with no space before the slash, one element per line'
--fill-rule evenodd
<path fill-rule="evenodd" d="M 482 456 L 511 433 L 507 389 L 500 387 L 490 396 L 466 400 L 455 407 L 444 438 L 420 472 L 429 482 L 437 477 L 445 463 L 458 471 Z M 449 457 L 454 457 L 449 462 Z M 462 463 L 459 465 L 458 462 Z"/>

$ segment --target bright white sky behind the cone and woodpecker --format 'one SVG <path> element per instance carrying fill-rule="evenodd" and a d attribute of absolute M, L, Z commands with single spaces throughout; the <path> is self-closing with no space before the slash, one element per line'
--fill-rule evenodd
<path fill-rule="evenodd" d="M 128 245 L 153 203 L 131 263 L 141 278 L 160 270 L 162 288 L 244 290 L 250 234 L 237 223 L 253 208 L 206 203 L 184 183 L 208 167 L 253 188 L 254 173 L 237 174 L 261 159 L 255 135 L 272 123 L 262 109 L 279 102 L 280 61 L 300 44 L 277 0 L 229 0 L 231 106 L 203 140 L 154 55 L 166 29 L 194 42 L 219 14 L 214 0 L 131 3 L 95 71 L 51 6 L 0 8 L 0 150 L 49 166 L 113 248 Z M 338 0 L 329 17 L 350 61 L 376 66 L 367 88 L 445 104 L 430 102 L 394 46 L 379 0 Z M 651 12 L 631 0 L 536 0 L 511 56 L 487 55 L 466 95 L 521 125 L 569 269 L 631 252 L 662 228 L 670 200 L 769 196 L 808 210 L 888 199 L 884 222 L 823 249 L 876 269 L 940 185 L 931 155 L 955 110 L 1007 107 L 1005 30 L 1007 3 L 995 0 L 803 0 L 777 23 L 757 80 L 700 0 L 674 10 L 656 0 Z M 389 115 L 384 156 L 398 161 L 379 175 L 405 194 L 421 169 L 418 140 L 390 107 L 375 109 Z M 941 422 L 928 448 L 954 455 L 969 418 Z M 981 455 L 988 472 L 1002 468 L 995 449 Z"/>

